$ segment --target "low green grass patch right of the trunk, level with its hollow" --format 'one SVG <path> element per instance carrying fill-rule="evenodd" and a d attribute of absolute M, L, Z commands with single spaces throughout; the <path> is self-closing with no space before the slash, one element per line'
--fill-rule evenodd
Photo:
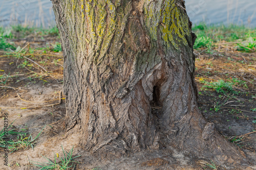
<path fill-rule="evenodd" d="M 226 94 L 227 92 L 232 94 L 238 94 L 237 91 L 233 90 L 232 82 L 225 82 L 224 80 L 218 80 L 217 82 L 207 82 L 205 80 L 201 81 L 203 84 L 203 88 L 206 89 L 215 89 L 218 93 Z"/>

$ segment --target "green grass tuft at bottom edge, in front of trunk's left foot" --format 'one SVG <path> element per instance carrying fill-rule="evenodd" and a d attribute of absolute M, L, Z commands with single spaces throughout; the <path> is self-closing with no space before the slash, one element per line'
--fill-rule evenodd
<path fill-rule="evenodd" d="M 54 161 L 52 161 L 49 158 L 42 156 L 48 162 L 40 163 L 40 162 L 31 161 L 32 164 L 34 166 L 40 167 L 40 170 L 42 170 L 42 169 L 69 169 L 69 168 L 74 169 L 75 168 L 74 163 L 78 163 L 74 159 L 81 155 L 75 156 L 75 157 L 72 156 L 74 147 L 69 152 L 63 150 L 62 145 L 61 145 L 61 148 L 62 148 L 62 152 L 63 152 L 63 157 L 58 158 L 58 154 L 56 154 L 56 155 L 54 154 Z M 59 160 L 57 161 L 57 159 L 59 159 Z M 37 164 L 35 164 L 35 163 L 37 163 Z"/>

